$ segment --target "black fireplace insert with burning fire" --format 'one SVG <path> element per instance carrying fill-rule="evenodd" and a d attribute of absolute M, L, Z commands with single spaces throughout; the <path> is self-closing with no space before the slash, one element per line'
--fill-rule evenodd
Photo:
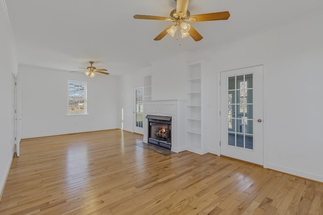
<path fill-rule="evenodd" d="M 147 115 L 148 144 L 171 150 L 172 147 L 172 117 Z"/>

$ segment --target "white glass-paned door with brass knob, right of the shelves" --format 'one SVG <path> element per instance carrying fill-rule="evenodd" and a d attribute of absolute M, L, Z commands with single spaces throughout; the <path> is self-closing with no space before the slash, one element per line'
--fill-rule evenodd
<path fill-rule="evenodd" d="M 221 77 L 221 155 L 263 165 L 263 66 Z"/>

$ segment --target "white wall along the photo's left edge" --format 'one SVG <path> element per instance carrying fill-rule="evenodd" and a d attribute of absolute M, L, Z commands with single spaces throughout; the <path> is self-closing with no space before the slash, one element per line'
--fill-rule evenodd
<path fill-rule="evenodd" d="M 1 2 L 0 2 L 1 3 Z M 13 74 L 16 59 L 10 30 L 0 6 L 0 194 L 14 155 Z"/>

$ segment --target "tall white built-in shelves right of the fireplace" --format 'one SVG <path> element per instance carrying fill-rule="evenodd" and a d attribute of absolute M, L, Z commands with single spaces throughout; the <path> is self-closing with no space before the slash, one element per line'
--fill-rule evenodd
<path fill-rule="evenodd" d="M 201 63 L 187 66 L 186 141 L 189 151 L 201 154 Z"/>

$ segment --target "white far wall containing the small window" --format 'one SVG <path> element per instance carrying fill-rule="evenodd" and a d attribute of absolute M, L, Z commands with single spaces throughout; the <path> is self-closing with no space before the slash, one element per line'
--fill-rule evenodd
<path fill-rule="evenodd" d="M 22 138 L 118 128 L 119 78 L 19 66 Z M 67 115 L 67 83 L 87 82 L 87 115 Z"/>

